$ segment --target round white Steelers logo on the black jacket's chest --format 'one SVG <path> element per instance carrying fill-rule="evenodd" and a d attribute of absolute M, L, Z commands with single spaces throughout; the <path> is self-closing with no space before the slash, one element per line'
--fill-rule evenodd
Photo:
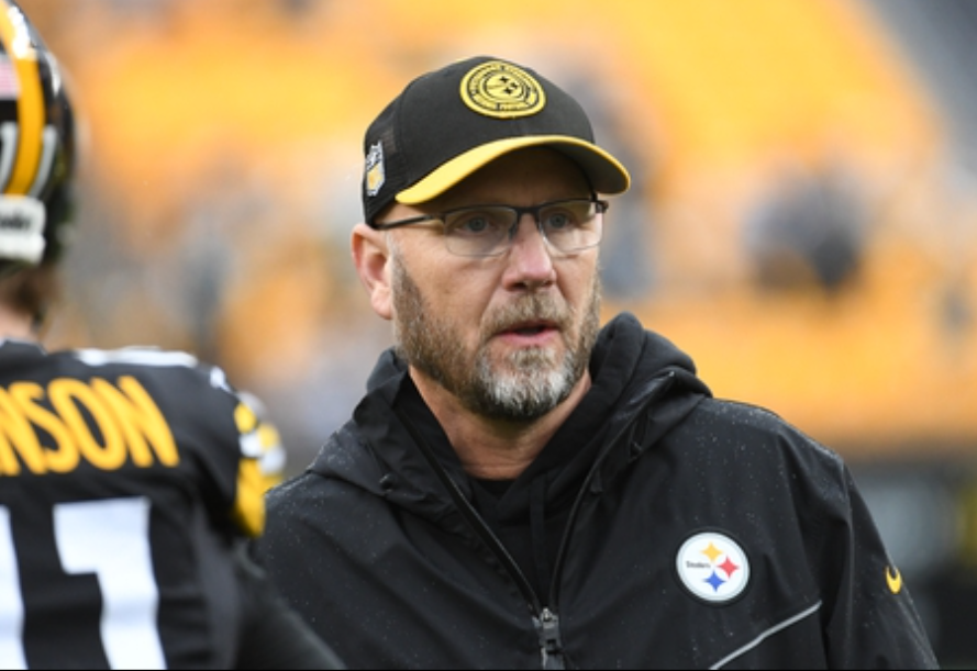
<path fill-rule="evenodd" d="M 675 558 L 678 577 L 691 594 L 709 603 L 736 599 L 750 583 L 750 560 L 736 541 L 723 534 L 697 534 Z"/>

